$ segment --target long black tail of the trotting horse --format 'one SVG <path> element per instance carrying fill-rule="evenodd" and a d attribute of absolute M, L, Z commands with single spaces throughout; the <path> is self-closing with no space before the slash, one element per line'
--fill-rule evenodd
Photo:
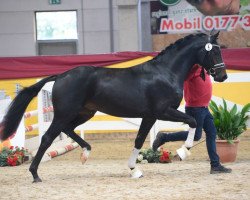
<path fill-rule="evenodd" d="M 20 91 L 20 93 L 18 93 L 0 123 L 0 140 L 6 140 L 15 133 L 31 100 L 37 96 L 38 92 L 42 89 L 45 83 L 55 80 L 56 76 L 49 76 L 36 84 L 31 85 L 30 87 L 24 88 Z"/>

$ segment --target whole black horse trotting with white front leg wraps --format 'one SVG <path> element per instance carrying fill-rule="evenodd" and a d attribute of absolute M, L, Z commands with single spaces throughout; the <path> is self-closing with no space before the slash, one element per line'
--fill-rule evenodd
<path fill-rule="evenodd" d="M 7 139 L 17 129 L 30 101 L 49 81 L 55 81 L 52 90 L 54 119 L 43 135 L 38 152 L 31 163 L 34 182 L 40 182 L 38 165 L 53 140 L 64 132 L 79 145 L 91 146 L 74 129 L 94 116 L 97 111 L 119 117 L 142 118 L 135 139 L 135 148 L 129 159 L 133 169 L 136 156 L 157 119 L 184 122 L 191 128 L 196 121 L 177 110 L 183 97 L 183 83 L 194 64 L 199 64 L 215 81 L 227 78 L 218 34 L 189 35 L 167 47 L 152 60 L 131 68 L 77 67 L 65 73 L 50 76 L 23 89 L 13 100 L 1 123 L 0 139 Z"/>

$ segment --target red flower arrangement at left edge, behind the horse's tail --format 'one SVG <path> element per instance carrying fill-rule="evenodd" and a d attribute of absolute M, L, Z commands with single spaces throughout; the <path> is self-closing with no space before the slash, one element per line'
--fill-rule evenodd
<path fill-rule="evenodd" d="M 0 152 L 0 167 L 21 165 L 26 152 L 27 150 L 23 147 L 4 147 Z"/>

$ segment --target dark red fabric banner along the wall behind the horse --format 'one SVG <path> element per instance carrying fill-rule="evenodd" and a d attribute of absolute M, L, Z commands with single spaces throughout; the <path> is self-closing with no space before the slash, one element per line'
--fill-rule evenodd
<path fill-rule="evenodd" d="M 0 58 L 0 79 L 33 78 L 63 73 L 78 66 L 108 66 L 155 52 L 119 52 L 97 55 L 32 56 Z M 222 49 L 227 69 L 250 70 L 250 48 Z"/>

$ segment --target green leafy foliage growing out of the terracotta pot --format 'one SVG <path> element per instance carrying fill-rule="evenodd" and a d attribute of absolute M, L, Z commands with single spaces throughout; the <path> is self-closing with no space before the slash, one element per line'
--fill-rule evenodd
<path fill-rule="evenodd" d="M 237 139 L 247 129 L 246 123 L 249 118 L 247 113 L 250 112 L 250 103 L 246 104 L 240 111 L 237 109 L 236 104 L 229 109 L 224 99 L 223 105 L 219 106 L 212 100 L 209 108 L 214 117 L 219 139 L 232 143 L 232 140 Z"/>

